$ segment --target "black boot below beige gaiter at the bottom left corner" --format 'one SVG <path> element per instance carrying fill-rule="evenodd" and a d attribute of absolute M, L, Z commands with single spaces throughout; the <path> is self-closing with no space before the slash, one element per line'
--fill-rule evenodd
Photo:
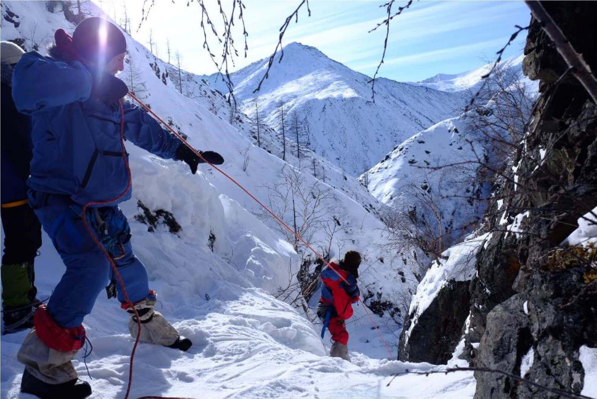
<path fill-rule="evenodd" d="M 35 378 L 25 369 L 23 379 L 21 379 L 21 392 L 42 399 L 82 399 L 91 395 L 91 386 L 89 383 L 77 378 L 63 383 L 47 383 Z"/>

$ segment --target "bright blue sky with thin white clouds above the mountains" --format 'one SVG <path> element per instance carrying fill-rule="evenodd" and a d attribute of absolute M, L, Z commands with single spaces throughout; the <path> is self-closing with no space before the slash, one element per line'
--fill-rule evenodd
<path fill-rule="evenodd" d="M 96 1 L 98 4 L 99 0 Z M 232 2 L 223 0 L 230 10 Z M 278 40 L 278 29 L 300 1 L 247 0 L 244 11 L 249 32 L 248 57 L 237 58 L 236 67 L 244 67 L 269 56 Z M 122 18 L 124 0 L 104 0 L 101 7 Z M 133 21 L 133 36 L 147 47 L 149 29 L 158 45 L 158 55 L 167 58 L 166 39 L 180 51 L 183 67 L 193 73 L 207 74 L 216 68 L 202 48 L 203 33 L 199 26 L 201 9 L 196 3 L 187 7 L 186 0 L 158 0 L 149 19 L 135 32 L 141 16 L 141 1 L 128 0 L 127 11 Z M 214 21 L 220 21 L 215 0 L 207 0 Z M 385 27 L 367 33 L 385 17 L 383 1 L 310 1 L 311 17 L 301 9 L 298 23 L 291 23 L 284 44 L 293 41 L 318 48 L 328 57 L 358 72 L 373 76 L 383 52 Z M 405 4 L 397 1 L 394 7 Z M 397 81 L 420 81 L 437 73 L 458 73 L 474 69 L 484 60 L 495 58 L 515 25 L 526 26 L 530 12 L 522 1 L 416 1 L 390 24 L 386 60 L 379 76 Z M 221 25 L 216 23 L 221 30 Z M 237 42 L 242 40 L 240 24 Z M 506 57 L 522 54 L 525 32 L 510 45 Z M 237 43 L 238 44 L 238 43 Z M 219 51 L 216 41 L 210 46 Z M 242 48 L 242 44 L 238 44 Z M 290 61 L 290 60 L 286 60 Z M 284 62 L 284 61 L 282 61 Z M 272 72 L 273 73 L 273 72 Z"/>

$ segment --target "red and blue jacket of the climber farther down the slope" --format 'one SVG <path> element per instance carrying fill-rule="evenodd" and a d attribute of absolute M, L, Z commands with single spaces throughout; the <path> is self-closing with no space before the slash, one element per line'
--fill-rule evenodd
<path fill-rule="evenodd" d="M 331 318 L 340 317 L 348 320 L 352 317 L 352 304 L 359 300 L 359 287 L 356 285 L 355 276 L 343 270 L 340 262 L 330 262 L 331 267 L 326 267 L 321 271 L 321 298 L 319 299 L 318 314 L 324 318 L 325 329 L 330 323 Z M 323 314 L 325 310 L 325 316 Z"/>

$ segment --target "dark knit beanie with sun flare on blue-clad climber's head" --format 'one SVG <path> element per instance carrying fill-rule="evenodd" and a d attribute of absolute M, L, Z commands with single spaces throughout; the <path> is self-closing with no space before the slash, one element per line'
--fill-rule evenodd
<path fill-rule="evenodd" d="M 75 28 L 72 42 L 79 56 L 98 66 L 127 51 L 127 41 L 120 29 L 100 17 L 82 20 Z"/>

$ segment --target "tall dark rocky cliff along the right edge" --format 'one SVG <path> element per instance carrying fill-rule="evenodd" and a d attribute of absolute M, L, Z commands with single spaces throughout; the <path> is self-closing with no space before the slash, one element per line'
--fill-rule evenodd
<path fill-rule="evenodd" d="M 543 4 L 597 70 L 592 6 Z M 566 67 L 537 24 L 525 54 L 525 73 L 541 79 L 541 96 L 513 174 L 497 193 L 503 204 L 493 235 L 478 254 L 465 354 L 475 366 L 579 394 L 578 350 L 597 347 L 595 248 L 561 243 L 597 206 L 597 108 L 573 76 L 560 79 Z M 496 373 L 475 378 L 478 399 L 555 397 Z"/>

